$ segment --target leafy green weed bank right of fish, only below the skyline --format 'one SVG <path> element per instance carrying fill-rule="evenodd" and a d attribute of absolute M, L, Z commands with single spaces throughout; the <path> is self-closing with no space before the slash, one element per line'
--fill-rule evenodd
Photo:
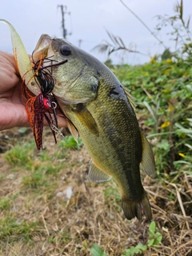
<path fill-rule="evenodd" d="M 150 128 L 158 174 L 170 174 L 183 155 L 192 163 L 192 72 L 190 61 L 172 59 L 113 70 L 137 103 L 142 126 Z"/>

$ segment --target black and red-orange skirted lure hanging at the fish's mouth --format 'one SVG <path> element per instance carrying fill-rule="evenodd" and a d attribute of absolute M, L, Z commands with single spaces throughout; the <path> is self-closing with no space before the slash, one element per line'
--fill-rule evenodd
<path fill-rule="evenodd" d="M 33 55 L 32 55 L 33 59 Z M 50 62 L 48 66 L 43 64 Z M 54 142 L 57 143 L 55 136 L 55 130 L 58 129 L 58 118 L 56 115 L 56 109 L 60 110 L 52 90 L 54 89 L 55 80 L 52 76 L 52 67 L 62 65 L 67 62 L 52 63 L 53 60 L 50 58 L 40 58 L 38 62 L 34 63 L 33 60 L 33 71 L 34 79 L 40 87 L 41 93 L 37 96 L 33 96 L 26 90 L 25 97 L 28 98 L 26 102 L 26 112 L 30 120 L 30 126 L 34 131 L 34 139 L 38 150 L 42 149 L 42 131 L 43 131 L 43 119 L 46 118 L 50 129 L 54 135 Z M 51 70 L 49 70 L 49 68 Z M 60 110 L 61 111 L 61 110 Z M 62 113 L 63 114 L 63 113 Z M 64 115 L 64 114 L 63 114 Z"/>

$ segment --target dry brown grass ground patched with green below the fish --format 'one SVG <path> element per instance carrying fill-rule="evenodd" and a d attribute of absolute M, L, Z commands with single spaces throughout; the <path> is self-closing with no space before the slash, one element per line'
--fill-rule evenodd
<path fill-rule="evenodd" d="M 31 138 L 17 129 L 0 135 L 1 255 L 90 255 L 95 243 L 106 254 L 119 256 L 146 243 L 149 223 L 124 218 L 116 184 L 88 180 L 90 158 L 83 147 L 63 154 L 46 132 L 45 155 L 33 148 L 32 166 L 7 163 L 5 151 L 18 139 Z M 172 182 L 143 177 L 162 234 L 161 245 L 151 246 L 145 255 L 192 255 L 191 180 L 183 172 Z M 69 188 L 72 195 L 67 198 Z"/>

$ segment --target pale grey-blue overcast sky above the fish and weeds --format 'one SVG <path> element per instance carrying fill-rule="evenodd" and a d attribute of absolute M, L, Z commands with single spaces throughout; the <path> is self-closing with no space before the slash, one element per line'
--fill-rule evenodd
<path fill-rule="evenodd" d="M 180 1 L 180 0 L 178 0 Z M 156 15 L 174 15 L 176 0 L 123 0 L 135 14 L 154 31 L 158 24 Z M 183 0 L 184 17 L 188 18 L 192 12 L 192 1 Z M 134 46 L 146 55 L 125 54 L 117 52 L 110 58 L 116 63 L 130 65 L 142 64 L 150 61 L 150 56 L 161 54 L 163 47 L 150 34 L 119 0 L 0 0 L 0 18 L 9 21 L 22 38 L 29 54 L 34 50 L 41 34 L 62 38 L 62 14 L 58 5 L 67 6 L 65 14 L 67 40 L 79 46 L 100 61 L 106 61 L 106 54 L 93 51 L 94 46 L 103 40 L 110 42 L 106 30 L 122 38 L 127 47 Z M 10 31 L 0 23 L 0 50 L 12 52 Z M 173 47 L 174 42 L 166 35 L 167 30 L 158 34 L 167 47 Z M 173 49 L 173 48 L 170 48 Z"/>

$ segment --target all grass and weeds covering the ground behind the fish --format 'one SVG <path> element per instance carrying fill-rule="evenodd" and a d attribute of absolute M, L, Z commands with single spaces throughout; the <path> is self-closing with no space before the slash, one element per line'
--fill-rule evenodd
<path fill-rule="evenodd" d="M 1 255 L 192 255 L 192 40 L 182 1 L 174 8 L 156 27 L 170 26 L 174 52 L 165 47 L 142 66 L 106 62 L 131 90 L 153 146 L 156 177 L 142 174 L 153 222 L 125 219 L 113 180 L 89 182 L 81 139 L 63 129 L 54 145 L 45 129 L 37 151 L 30 129 L 14 128 L 0 133 Z M 111 43 L 97 49 L 129 51 L 108 35 Z"/>

